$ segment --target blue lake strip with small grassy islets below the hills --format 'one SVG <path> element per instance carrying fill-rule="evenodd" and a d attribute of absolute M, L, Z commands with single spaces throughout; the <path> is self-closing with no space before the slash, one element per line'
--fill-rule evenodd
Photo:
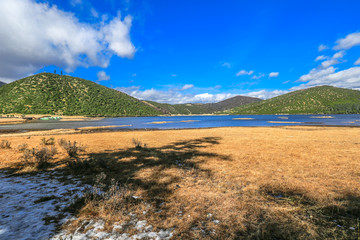
<path fill-rule="evenodd" d="M 324 118 L 326 117 L 326 118 Z M 360 126 L 360 114 L 350 115 L 226 115 L 104 118 L 98 121 L 36 121 L 0 125 L 0 130 L 61 129 L 96 126 L 119 126 L 117 129 L 177 129 L 235 126 L 341 125 Z M 120 126 L 124 125 L 124 126 Z"/>

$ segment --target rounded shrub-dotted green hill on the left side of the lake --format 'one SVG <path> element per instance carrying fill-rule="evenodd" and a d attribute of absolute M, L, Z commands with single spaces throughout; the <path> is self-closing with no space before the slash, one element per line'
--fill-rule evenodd
<path fill-rule="evenodd" d="M 0 113 L 149 116 L 160 112 L 92 81 L 40 73 L 1 86 Z"/>

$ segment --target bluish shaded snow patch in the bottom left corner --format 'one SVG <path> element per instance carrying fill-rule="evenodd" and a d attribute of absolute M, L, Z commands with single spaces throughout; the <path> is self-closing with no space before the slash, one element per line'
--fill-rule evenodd
<path fill-rule="evenodd" d="M 64 208 L 84 190 L 71 177 L 67 183 L 56 178 L 51 172 L 31 175 L 0 172 L 0 239 L 38 240 L 54 235 L 57 224 L 54 218 L 59 214 L 64 214 L 63 222 L 69 218 Z"/>

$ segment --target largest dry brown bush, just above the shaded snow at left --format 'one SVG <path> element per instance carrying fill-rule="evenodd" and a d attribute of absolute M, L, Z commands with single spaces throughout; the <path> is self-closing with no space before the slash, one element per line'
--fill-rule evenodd
<path fill-rule="evenodd" d="M 55 147 L 49 148 L 33 148 L 25 149 L 23 151 L 22 164 L 23 166 L 31 166 L 36 169 L 43 169 L 49 165 L 50 160 L 53 159 L 57 149 Z"/>

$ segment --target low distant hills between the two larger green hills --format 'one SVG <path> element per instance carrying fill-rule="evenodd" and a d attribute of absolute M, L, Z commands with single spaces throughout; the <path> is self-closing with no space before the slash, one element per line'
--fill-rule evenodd
<path fill-rule="evenodd" d="M 235 96 L 218 103 L 167 104 L 153 101 L 147 101 L 147 103 L 166 114 L 211 114 L 258 101 L 261 101 L 261 99 Z"/>

